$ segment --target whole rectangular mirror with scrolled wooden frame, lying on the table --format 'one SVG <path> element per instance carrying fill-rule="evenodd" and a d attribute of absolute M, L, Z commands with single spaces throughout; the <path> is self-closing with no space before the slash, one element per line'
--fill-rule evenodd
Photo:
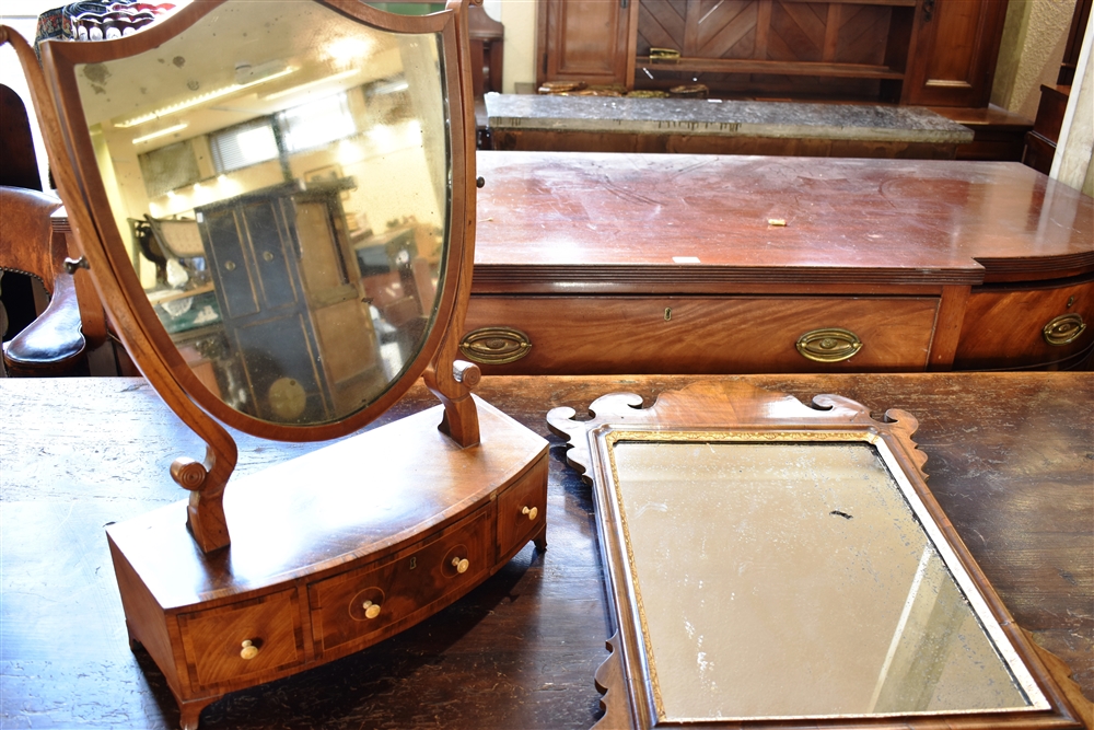
<path fill-rule="evenodd" d="M 548 414 L 593 485 L 597 730 L 1083 728 L 926 485 L 918 424 L 734 381 Z"/>

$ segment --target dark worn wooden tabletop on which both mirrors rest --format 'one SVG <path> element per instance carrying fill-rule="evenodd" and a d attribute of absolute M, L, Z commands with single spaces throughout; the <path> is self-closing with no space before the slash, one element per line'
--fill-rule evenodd
<path fill-rule="evenodd" d="M 1017 623 L 1094 697 L 1094 375 L 742 379 L 806 402 L 838 393 L 877 414 L 911 412 L 942 508 Z M 547 553 L 528 546 L 394 639 L 229 695 L 201 727 L 590 727 L 609 635 L 593 505 L 544 415 L 694 380 L 484 379 L 484 398 L 551 440 Z M 431 401 L 418 385 L 388 416 Z M 162 675 L 129 650 L 104 526 L 183 499 L 167 466 L 199 445 L 143 380 L 0 380 L 0 728 L 177 727 Z M 240 436 L 240 472 L 321 445 Z"/>

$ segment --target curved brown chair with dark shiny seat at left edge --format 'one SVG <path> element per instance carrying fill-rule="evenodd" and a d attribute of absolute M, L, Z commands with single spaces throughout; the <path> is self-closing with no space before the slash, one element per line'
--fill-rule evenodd
<path fill-rule="evenodd" d="M 65 269 L 67 241 L 53 228 L 60 207 L 37 190 L 0 186 L 0 269 L 39 279 L 50 296 L 45 311 L 3 344 L 11 376 L 88 374 L 75 282 Z"/>

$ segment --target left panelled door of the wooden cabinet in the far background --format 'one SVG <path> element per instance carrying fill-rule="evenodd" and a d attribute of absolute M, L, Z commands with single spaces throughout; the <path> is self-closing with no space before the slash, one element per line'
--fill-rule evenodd
<path fill-rule="evenodd" d="M 539 0 L 536 84 L 631 83 L 631 11 L 638 0 Z"/>

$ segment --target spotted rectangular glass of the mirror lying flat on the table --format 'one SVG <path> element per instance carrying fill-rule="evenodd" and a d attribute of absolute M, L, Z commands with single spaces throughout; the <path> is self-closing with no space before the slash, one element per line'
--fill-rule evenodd
<path fill-rule="evenodd" d="M 607 439 L 661 721 L 1047 707 L 883 442 L 772 441 Z"/>

